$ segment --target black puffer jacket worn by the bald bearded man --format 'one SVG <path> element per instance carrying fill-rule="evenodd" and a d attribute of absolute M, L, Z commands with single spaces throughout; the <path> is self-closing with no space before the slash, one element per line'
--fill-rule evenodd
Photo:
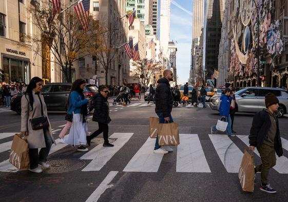
<path fill-rule="evenodd" d="M 164 117 L 169 117 L 173 104 L 170 84 L 166 78 L 160 78 L 157 83 L 158 85 L 155 93 L 155 112 L 163 113 Z"/>

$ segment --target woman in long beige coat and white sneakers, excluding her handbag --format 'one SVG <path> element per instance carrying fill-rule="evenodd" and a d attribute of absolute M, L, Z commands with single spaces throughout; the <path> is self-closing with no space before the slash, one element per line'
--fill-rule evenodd
<path fill-rule="evenodd" d="M 49 168 L 46 163 L 47 156 L 55 140 L 52 137 L 51 126 L 47 116 L 47 108 L 44 98 L 41 95 L 43 80 L 39 77 L 31 79 L 27 90 L 21 99 L 21 133 L 27 136 L 30 158 L 29 171 L 41 173 L 42 168 Z M 33 130 L 30 119 L 46 116 L 49 127 L 40 130 Z M 38 153 L 38 148 L 41 148 Z M 42 168 L 39 167 L 40 164 Z"/>

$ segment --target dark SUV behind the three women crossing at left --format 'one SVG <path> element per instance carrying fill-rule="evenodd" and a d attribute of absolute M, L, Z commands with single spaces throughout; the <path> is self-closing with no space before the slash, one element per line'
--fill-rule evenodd
<path fill-rule="evenodd" d="M 43 86 L 41 94 L 44 97 L 47 111 L 67 111 L 66 102 L 70 93 L 72 83 L 49 83 Z M 85 97 L 92 97 L 98 92 L 95 85 L 87 84 L 84 88 Z M 23 94 L 18 94 L 11 99 L 11 110 L 21 114 L 21 98 Z M 89 109 L 92 111 L 92 103 L 89 102 Z"/>

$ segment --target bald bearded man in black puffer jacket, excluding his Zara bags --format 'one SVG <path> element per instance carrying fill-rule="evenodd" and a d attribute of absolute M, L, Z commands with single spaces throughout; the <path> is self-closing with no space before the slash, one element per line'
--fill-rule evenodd
<path fill-rule="evenodd" d="M 159 123 L 165 122 L 173 122 L 171 117 L 172 105 L 173 105 L 173 97 L 170 89 L 169 81 L 173 81 L 173 73 L 169 69 L 165 69 L 163 72 L 163 78 L 160 78 L 157 83 L 156 93 L 155 93 L 155 112 L 159 117 Z M 158 136 L 156 138 L 154 153 L 157 154 L 167 154 L 168 152 L 172 152 L 172 148 L 170 146 L 161 146 L 158 142 Z"/>

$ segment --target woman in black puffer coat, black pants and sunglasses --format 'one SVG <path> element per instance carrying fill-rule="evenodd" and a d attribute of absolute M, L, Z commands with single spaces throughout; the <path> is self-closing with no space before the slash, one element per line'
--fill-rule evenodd
<path fill-rule="evenodd" d="M 104 144 L 103 146 L 114 146 L 108 141 L 108 123 L 111 119 L 109 117 L 109 103 L 108 103 L 108 93 L 109 90 L 106 86 L 99 87 L 99 93 L 93 97 L 94 102 L 94 113 L 93 121 L 98 122 L 99 128 L 97 131 L 92 133 L 90 136 L 87 136 L 87 144 L 90 146 L 90 141 L 94 137 L 97 137 L 100 133 L 103 132 Z"/>

